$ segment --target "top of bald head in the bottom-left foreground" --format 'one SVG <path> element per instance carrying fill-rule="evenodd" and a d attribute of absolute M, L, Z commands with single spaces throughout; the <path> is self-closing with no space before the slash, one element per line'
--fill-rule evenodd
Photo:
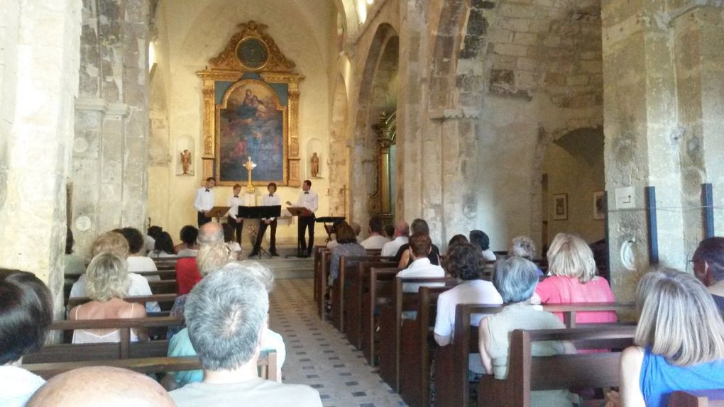
<path fill-rule="evenodd" d="M 28 407 L 173 407 L 155 380 L 117 367 L 81 367 L 53 377 L 30 398 Z"/>

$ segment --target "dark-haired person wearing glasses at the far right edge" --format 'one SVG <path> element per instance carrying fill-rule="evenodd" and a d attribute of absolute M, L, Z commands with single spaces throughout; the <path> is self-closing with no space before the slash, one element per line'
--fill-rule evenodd
<path fill-rule="evenodd" d="M 694 275 L 707 286 L 721 312 L 724 312 L 724 237 L 702 240 L 694 252 Z"/>

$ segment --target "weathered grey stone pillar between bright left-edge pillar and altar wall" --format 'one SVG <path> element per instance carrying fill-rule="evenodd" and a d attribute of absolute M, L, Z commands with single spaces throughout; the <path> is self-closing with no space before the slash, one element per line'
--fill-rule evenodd
<path fill-rule="evenodd" d="M 78 254 L 112 228 L 146 229 L 147 53 L 146 0 L 83 2 L 72 175 Z"/>

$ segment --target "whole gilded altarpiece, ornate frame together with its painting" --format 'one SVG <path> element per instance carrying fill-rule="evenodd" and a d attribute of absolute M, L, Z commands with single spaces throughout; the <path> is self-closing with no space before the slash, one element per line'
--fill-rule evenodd
<path fill-rule="evenodd" d="M 295 64 L 263 33 L 265 25 L 238 25 L 203 79 L 203 176 L 220 185 L 243 184 L 251 158 L 253 185 L 300 185 L 299 82 Z"/>

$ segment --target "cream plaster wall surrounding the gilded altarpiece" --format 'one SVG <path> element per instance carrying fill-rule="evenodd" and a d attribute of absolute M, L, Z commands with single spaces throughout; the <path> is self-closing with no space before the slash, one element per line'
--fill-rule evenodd
<path fill-rule="evenodd" d="M 196 215 L 192 204 L 195 190 L 201 186 L 203 168 L 202 118 L 203 98 L 201 79 L 195 72 L 203 69 L 209 59 L 218 55 L 227 41 L 236 32 L 236 25 L 255 20 L 266 24 L 266 33 L 271 35 L 282 53 L 296 64 L 295 72 L 305 77 L 300 83 L 299 142 L 300 176 L 311 177 L 308 173 L 308 158 L 313 151 L 308 150 L 309 141 L 319 140 L 321 145 L 329 145 L 329 46 L 330 25 L 334 21 L 330 16 L 331 4 L 323 2 L 308 3 L 296 1 L 250 1 L 243 5 L 233 1 L 174 1 L 159 5 L 159 40 L 167 41 L 161 49 L 159 58 L 167 61 L 159 64 L 166 86 L 168 145 L 172 160 L 169 166 L 154 166 L 149 176 L 155 191 L 151 193 L 149 205 L 151 212 L 159 214 L 153 223 L 164 227 L 174 239 L 180 228 L 186 224 L 195 225 Z M 152 100 L 153 103 L 153 100 Z M 193 157 L 194 176 L 177 176 L 173 159 L 180 137 L 192 137 L 195 140 L 196 155 Z M 328 150 L 317 151 L 321 157 L 321 173 L 329 173 L 326 163 Z M 313 189 L 319 193 L 317 215 L 327 215 L 329 205 L 327 189 L 329 179 L 313 179 Z M 261 194 L 266 188 L 256 190 L 261 202 Z M 295 202 L 300 189 L 279 187 L 282 202 Z M 225 205 L 232 194 L 231 187 L 215 189 L 216 205 Z M 319 226 L 316 236 L 324 234 Z M 283 226 L 277 229 L 279 239 L 294 241 L 295 226 Z"/>

